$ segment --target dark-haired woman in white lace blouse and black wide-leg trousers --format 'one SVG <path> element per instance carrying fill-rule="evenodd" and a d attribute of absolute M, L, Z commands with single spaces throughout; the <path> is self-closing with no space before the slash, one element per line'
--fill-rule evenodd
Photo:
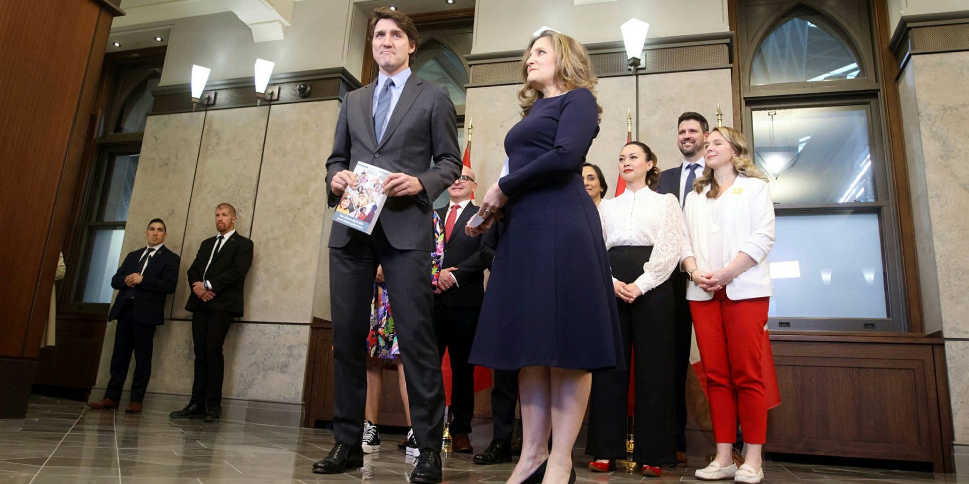
<path fill-rule="evenodd" d="M 670 276 L 679 262 L 683 219 L 676 197 L 655 192 L 656 155 L 639 142 L 619 154 L 626 191 L 599 204 L 619 307 L 626 367 L 592 375 L 585 453 L 593 471 L 615 469 L 626 457 L 629 368 L 636 366 L 636 446 L 642 475 L 659 476 L 676 464 L 673 408 L 673 295 Z"/>

